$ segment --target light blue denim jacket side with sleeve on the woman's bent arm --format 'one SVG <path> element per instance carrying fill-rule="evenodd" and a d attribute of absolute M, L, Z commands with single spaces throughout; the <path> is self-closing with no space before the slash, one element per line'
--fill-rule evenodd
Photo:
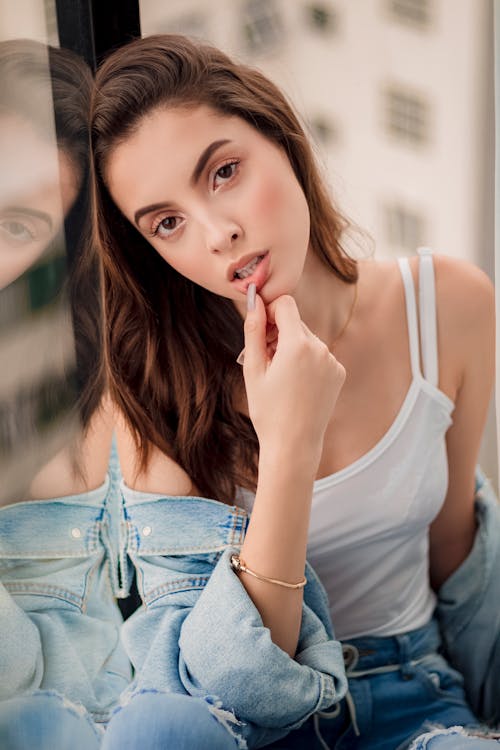
<path fill-rule="evenodd" d="M 271 640 L 230 566 L 247 527 L 244 510 L 125 486 L 123 495 L 124 544 L 144 602 L 123 626 L 136 670 L 131 693 L 164 690 L 204 698 L 242 720 L 242 748 L 250 738 L 252 747 L 260 747 L 284 736 L 344 696 L 341 645 L 310 567 L 291 659 Z"/>

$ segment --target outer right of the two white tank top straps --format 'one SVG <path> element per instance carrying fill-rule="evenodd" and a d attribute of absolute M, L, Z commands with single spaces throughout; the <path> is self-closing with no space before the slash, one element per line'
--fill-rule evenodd
<path fill-rule="evenodd" d="M 420 338 L 424 377 L 437 388 L 438 354 L 436 327 L 436 289 L 434 283 L 434 262 L 429 247 L 419 247 L 419 299 Z"/>

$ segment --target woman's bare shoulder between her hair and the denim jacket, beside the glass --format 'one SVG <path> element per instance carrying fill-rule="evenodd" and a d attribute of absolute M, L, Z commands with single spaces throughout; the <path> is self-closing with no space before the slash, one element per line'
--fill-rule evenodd
<path fill-rule="evenodd" d="M 119 413 L 115 417 L 115 434 L 123 479 L 128 487 L 162 495 L 198 494 L 187 472 L 155 446 L 151 446 L 147 468 L 140 470 L 135 440 Z"/>

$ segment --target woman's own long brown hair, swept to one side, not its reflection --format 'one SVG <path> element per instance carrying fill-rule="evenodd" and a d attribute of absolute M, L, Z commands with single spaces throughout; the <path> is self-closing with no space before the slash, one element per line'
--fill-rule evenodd
<path fill-rule="evenodd" d="M 230 300 L 161 259 L 121 216 L 104 179 L 113 147 L 151 109 L 198 104 L 241 117 L 285 151 L 309 206 L 313 250 L 346 282 L 356 280 L 357 268 L 340 245 L 347 221 L 332 206 L 297 117 L 261 73 L 181 36 L 136 40 L 104 61 L 91 121 L 114 398 L 134 431 L 142 467 L 153 443 L 200 492 L 234 502 L 237 484 L 255 482 L 258 452 L 250 420 L 233 406 L 242 384 L 235 364 L 241 318 Z"/>

